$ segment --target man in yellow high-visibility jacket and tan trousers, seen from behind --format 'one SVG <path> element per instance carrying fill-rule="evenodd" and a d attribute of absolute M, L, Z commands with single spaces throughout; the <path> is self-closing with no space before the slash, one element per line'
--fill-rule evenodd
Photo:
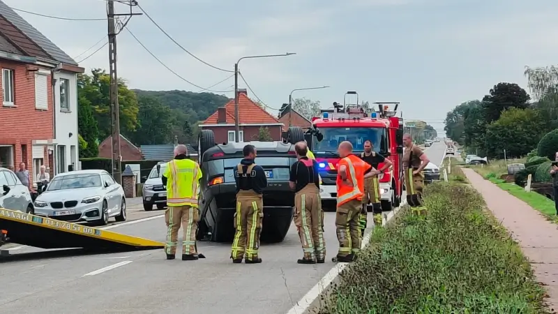
<path fill-rule="evenodd" d="M 165 211 L 165 223 L 168 229 L 165 244 L 167 260 L 174 260 L 180 225 L 184 232 L 182 260 L 199 258 L 195 241 L 199 222 L 197 195 L 202 170 L 195 161 L 188 159 L 187 154 L 186 145 L 177 145 L 174 148 L 174 159 L 167 163 L 161 177 L 163 186 L 167 186 L 167 210 Z"/>

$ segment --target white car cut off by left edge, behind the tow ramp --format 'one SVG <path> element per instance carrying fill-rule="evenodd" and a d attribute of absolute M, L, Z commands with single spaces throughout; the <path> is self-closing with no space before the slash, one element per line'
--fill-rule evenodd
<path fill-rule="evenodd" d="M 0 167 L 0 207 L 33 214 L 33 200 L 29 188 L 11 170 Z"/>

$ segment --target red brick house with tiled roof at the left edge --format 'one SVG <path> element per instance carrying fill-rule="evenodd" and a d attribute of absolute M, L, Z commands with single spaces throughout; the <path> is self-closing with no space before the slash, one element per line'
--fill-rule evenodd
<path fill-rule="evenodd" d="M 0 165 L 24 162 L 31 183 L 41 165 L 54 176 L 54 82 L 59 73 L 75 76 L 84 69 L 0 1 L 0 71 Z M 77 114 L 73 121 L 77 143 Z"/>

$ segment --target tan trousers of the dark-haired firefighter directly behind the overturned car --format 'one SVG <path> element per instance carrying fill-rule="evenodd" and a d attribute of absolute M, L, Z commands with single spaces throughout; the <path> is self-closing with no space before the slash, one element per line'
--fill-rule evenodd
<path fill-rule="evenodd" d="M 236 193 L 236 213 L 234 214 L 236 233 L 232 241 L 231 253 L 233 260 L 245 257 L 245 253 L 246 260 L 257 259 L 263 220 L 263 196 L 253 190 L 240 190 L 239 193 Z"/>

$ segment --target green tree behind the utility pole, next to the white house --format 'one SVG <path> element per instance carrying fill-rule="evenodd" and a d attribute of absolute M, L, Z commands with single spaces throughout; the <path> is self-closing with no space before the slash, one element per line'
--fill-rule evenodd
<path fill-rule="evenodd" d="M 126 82 L 119 78 L 119 115 L 121 133 L 125 136 L 133 135 L 137 126 L 137 98 L 128 89 Z M 89 100 L 93 107 L 93 116 L 97 120 L 100 140 L 105 140 L 112 133 L 110 117 L 110 76 L 105 70 L 95 68 L 91 75 L 78 77 L 78 98 Z M 84 137 L 85 139 L 85 137 Z"/>

